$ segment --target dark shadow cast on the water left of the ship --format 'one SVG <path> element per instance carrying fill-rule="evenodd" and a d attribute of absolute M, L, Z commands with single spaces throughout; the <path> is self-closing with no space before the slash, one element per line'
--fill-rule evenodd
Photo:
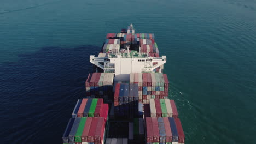
<path fill-rule="evenodd" d="M 61 143 L 77 99 L 84 98 L 89 62 L 100 47 L 43 47 L 0 65 L 3 143 Z M 1 143 L 2 143 L 1 142 Z"/>

